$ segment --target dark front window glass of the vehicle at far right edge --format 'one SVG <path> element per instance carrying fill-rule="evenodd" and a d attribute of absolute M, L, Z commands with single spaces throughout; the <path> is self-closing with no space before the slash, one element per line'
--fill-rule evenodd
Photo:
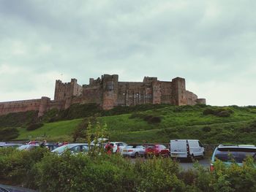
<path fill-rule="evenodd" d="M 256 149 L 252 148 L 219 148 L 215 157 L 220 161 L 242 163 L 247 156 L 255 158 Z"/>

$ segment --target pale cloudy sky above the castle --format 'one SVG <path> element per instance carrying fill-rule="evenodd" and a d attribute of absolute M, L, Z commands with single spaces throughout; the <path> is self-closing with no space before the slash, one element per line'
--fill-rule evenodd
<path fill-rule="evenodd" d="M 256 105 L 256 1 L 0 0 L 0 101 L 55 80 L 186 79 L 217 106 Z"/>

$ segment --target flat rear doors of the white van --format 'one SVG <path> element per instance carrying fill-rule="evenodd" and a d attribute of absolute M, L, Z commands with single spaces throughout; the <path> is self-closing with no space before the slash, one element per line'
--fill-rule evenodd
<path fill-rule="evenodd" d="M 170 157 L 187 158 L 187 140 L 170 140 Z"/>

